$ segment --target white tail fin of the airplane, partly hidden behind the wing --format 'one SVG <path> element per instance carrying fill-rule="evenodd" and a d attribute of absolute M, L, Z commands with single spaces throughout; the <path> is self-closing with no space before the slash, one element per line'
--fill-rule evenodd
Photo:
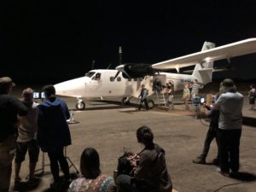
<path fill-rule="evenodd" d="M 215 47 L 215 44 L 211 42 L 205 42 L 201 51 L 212 49 Z M 212 82 L 212 72 L 213 72 L 213 61 L 206 61 L 201 64 L 196 64 L 195 69 L 192 73 L 194 79 L 197 79 L 198 82 L 202 84 L 207 84 Z"/>

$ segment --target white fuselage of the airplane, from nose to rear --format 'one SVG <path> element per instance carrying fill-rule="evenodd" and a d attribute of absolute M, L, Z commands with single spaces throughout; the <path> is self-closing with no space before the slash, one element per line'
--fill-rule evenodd
<path fill-rule="evenodd" d="M 161 80 L 162 84 L 172 81 L 174 90 L 182 90 L 185 82 L 191 83 L 193 81 L 192 75 L 177 73 L 160 73 L 141 79 L 125 79 L 121 73 L 116 79 L 113 79 L 117 70 L 109 69 L 92 70 L 90 73 L 94 74 L 91 77 L 84 76 L 55 84 L 56 95 L 84 98 L 111 96 L 137 97 L 140 93 L 141 85 L 145 84 L 145 88 L 148 89 L 148 95 L 150 96 L 154 93 L 153 84 L 156 77 Z M 96 73 L 101 73 L 100 79 L 95 79 Z"/>

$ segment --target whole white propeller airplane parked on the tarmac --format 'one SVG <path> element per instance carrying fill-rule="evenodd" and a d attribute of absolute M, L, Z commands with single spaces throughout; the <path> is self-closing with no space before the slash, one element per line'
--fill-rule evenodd
<path fill-rule="evenodd" d="M 120 64 L 115 69 L 90 70 L 84 77 L 67 80 L 55 84 L 56 95 L 77 98 L 76 108 L 83 110 L 85 103 L 82 98 L 123 97 L 122 103 L 130 103 L 131 97 L 139 96 L 141 85 L 148 90 L 148 106 L 154 108 L 156 86 L 172 82 L 174 90 L 183 90 L 183 84 L 198 80 L 199 84 L 212 82 L 213 61 L 247 55 L 256 52 L 256 38 L 247 38 L 232 44 L 215 47 L 205 42 L 200 52 L 184 55 L 168 61 L 154 64 Z M 179 73 L 180 68 L 195 66 L 192 74 Z M 177 73 L 166 73 L 176 69 Z"/>

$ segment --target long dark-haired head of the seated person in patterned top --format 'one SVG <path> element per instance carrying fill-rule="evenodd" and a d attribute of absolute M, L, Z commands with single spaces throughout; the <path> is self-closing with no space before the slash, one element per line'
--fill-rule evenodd
<path fill-rule="evenodd" d="M 95 148 L 85 148 L 80 159 L 80 170 L 85 178 L 94 179 L 101 174 L 100 157 Z"/>

